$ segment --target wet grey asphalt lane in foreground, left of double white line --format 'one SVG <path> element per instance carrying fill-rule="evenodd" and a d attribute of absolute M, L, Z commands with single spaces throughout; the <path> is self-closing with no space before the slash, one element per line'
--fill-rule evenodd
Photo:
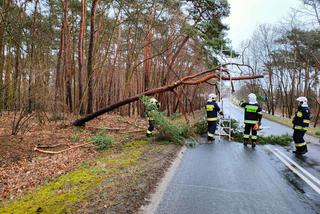
<path fill-rule="evenodd" d="M 320 213 L 272 158 L 239 143 L 188 149 L 156 213 Z"/>

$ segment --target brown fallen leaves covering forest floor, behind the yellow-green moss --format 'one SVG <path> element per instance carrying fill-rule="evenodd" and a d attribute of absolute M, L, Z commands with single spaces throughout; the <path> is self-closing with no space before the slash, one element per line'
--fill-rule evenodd
<path fill-rule="evenodd" d="M 115 142 L 120 142 L 130 132 L 133 133 L 131 135 L 139 134 L 135 133 L 138 127 L 139 131 L 146 127 L 146 122 L 141 118 L 111 114 L 91 121 L 87 124 L 91 127 L 88 129 L 75 129 L 65 125 L 66 121 L 48 122 L 33 124 L 33 128 L 23 136 L 10 136 L 6 135 L 11 127 L 9 117 L 10 115 L 0 117 L 0 124 L 4 127 L 0 129 L 0 198 L 14 198 L 71 171 L 84 160 L 96 158 L 99 152 L 86 140 L 103 127 L 108 128 L 106 132 Z M 81 139 L 76 143 L 71 140 L 75 134 Z M 87 143 L 89 146 L 86 146 Z M 64 151 L 58 154 L 41 154 L 34 151 L 39 144 L 52 147 L 50 151 L 53 153 Z M 63 145 L 65 148 L 55 148 L 55 145 Z M 37 150 L 39 149 L 41 148 Z"/>

